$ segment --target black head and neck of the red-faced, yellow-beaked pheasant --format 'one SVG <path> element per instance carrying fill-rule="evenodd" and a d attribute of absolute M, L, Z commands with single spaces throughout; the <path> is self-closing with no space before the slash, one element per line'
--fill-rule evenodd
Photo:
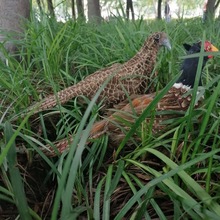
<path fill-rule="evenodd" d="M 186 49 L 188 54 L 199 53 L 201 51 L 201 41 L 194 43 L 193 45 L 183 44 L 183 46 Z M 213 52 L 213 51 L 218 51 L 218 49 L 215 46 L 213 46 L 209 41 L 205 41 L 204 51 Z M 208 55 L 204 57 L 202 68 L 205 66 L 209 58 L 212 58 L 212 56 Z M 199 57 L 189 57 L 189 58 L 184 59 L 182 63 L 182 67 L 181 67 L 182 74 L 176 83 L 192 88 L 195 83 L 198 63 L 199 63 Z M 199 86 L 201 85 L 202 85 L 202 81 L 200 78 Z"/>

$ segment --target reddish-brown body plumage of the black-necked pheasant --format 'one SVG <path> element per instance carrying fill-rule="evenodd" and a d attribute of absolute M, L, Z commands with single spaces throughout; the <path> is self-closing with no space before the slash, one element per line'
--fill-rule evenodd
<path fill-rule="evenodd" d="M 155 109 L 157 114 L 155 115 L 152 125 L 153 133 L 157 133 L 165 129 L 165 125 L 161 122 L 178 116 L 168 113 L 160 114 L 164 110 L 175 110 L 178 112 L 184 112 L 187 110 L 191 101 L 191 94 L 188 94 L 187 92 L 188 90 L 185 88 L 172 87 L 168 93 L 158 102 Z M 126 132 L 128 132 L 130 129 L 130 126 L 127 126 L 127 124 L 129 123 L 132 126 L 132 124 L 135 123 L 137 117 L 139 117 L 154 100 L 156 94 L 157 93 L 152 93 L 138 96 L 137 98 L 134 98 L 131 103 L 122 105 L 123 107 L 121 109 L 109 110 L 110 112 L 114 112 L 109 112 L 109 116 L 107 118 L 96 122 L 93 125 L 90 132 L 90 140 L 99 138 L 104 134 L 108 134 L 114 146 L 118 145 L 125 137 Z M 196 107 L 198 107 L 200 104 L 201 100 L 196 104 Z M 145 119 L 147 124 L 150 123 L 150 120 L 152 120 L 151 116 Z M 120 127 L 123 127 L 124 131 L 122 131 Z M 62 153 L 65 149 L 68 148 L 69 143 L 69 140 L 64 139 L 56 143 L 55 146 L 57 147 L 58 151 Z M 128 145 L 129 144 L 130 143 L 128 143 Z M 48 152 L 45 153 L 48 154 Z M 51 152 L 50 156 L 55 156 L 53 151 Z"/>

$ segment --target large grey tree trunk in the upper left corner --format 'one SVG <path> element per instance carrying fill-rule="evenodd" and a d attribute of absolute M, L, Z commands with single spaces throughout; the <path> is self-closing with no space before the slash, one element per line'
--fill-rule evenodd
<path fill-rule="evenodd" d="M 0 0 L 0 15 L 0 42 L 6 42 L 5 48 L 13 53 L 16 51 L 13 39 L 21 37 L 24 18 L 30 16 L 29 0 Z M 4 56 L 0 53 L 0 57 Z"/>

